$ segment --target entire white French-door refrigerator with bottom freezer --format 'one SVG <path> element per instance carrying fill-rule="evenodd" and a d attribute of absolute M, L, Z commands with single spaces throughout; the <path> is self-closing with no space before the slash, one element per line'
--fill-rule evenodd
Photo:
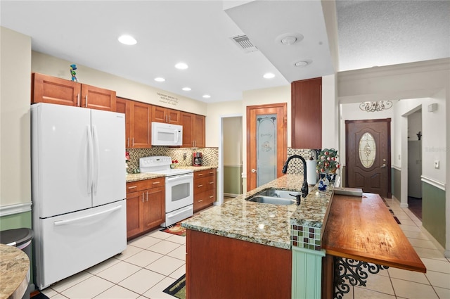
<path fill-rule="evenodd" d="M 127 248 L 122 113 L 37 103 L 32 226 L 39 289 Z"/>

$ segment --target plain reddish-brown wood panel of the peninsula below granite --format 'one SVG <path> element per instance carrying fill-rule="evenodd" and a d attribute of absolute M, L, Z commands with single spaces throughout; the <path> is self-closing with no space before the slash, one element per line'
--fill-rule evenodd
<path fill-rule="evenodd" d="M 187 230 L 186 299 L 290 299 L 292 252 Z"/>

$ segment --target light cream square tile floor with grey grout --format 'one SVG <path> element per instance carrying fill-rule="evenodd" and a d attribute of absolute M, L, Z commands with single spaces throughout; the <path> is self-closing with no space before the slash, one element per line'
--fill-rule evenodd
<path fill-rule="evenodd" d="M 351 287 L 344 299 L 450 299 L 450 260 L 420 227 L 422 223 L 399 202 L 387 199 L 400 227 L 427 267 L 427 273 L 389 268 L 369 274 L 366 287 Z M 162 290 L 183 275 L 186 238 L 155 230 L 128 243 L 122 254 L 80 272 L 42 293 L 52 299 L 174 298 Z"/>

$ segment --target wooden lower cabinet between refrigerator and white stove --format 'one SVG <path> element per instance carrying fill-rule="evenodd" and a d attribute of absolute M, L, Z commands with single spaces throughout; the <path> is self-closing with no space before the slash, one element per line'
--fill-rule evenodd
<path fill-rule="evenodd" d="M 165 177 L 127 183 L 127 238 L 165 222 Z"/>

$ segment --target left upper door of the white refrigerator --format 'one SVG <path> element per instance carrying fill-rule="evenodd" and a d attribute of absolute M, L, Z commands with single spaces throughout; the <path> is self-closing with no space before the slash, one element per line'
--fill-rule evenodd
<path fill-rule="evenodd" d="M 33 212 L 51 217 L 90 208 L 90 110 L 38 103 L 31 117 Z"/>

